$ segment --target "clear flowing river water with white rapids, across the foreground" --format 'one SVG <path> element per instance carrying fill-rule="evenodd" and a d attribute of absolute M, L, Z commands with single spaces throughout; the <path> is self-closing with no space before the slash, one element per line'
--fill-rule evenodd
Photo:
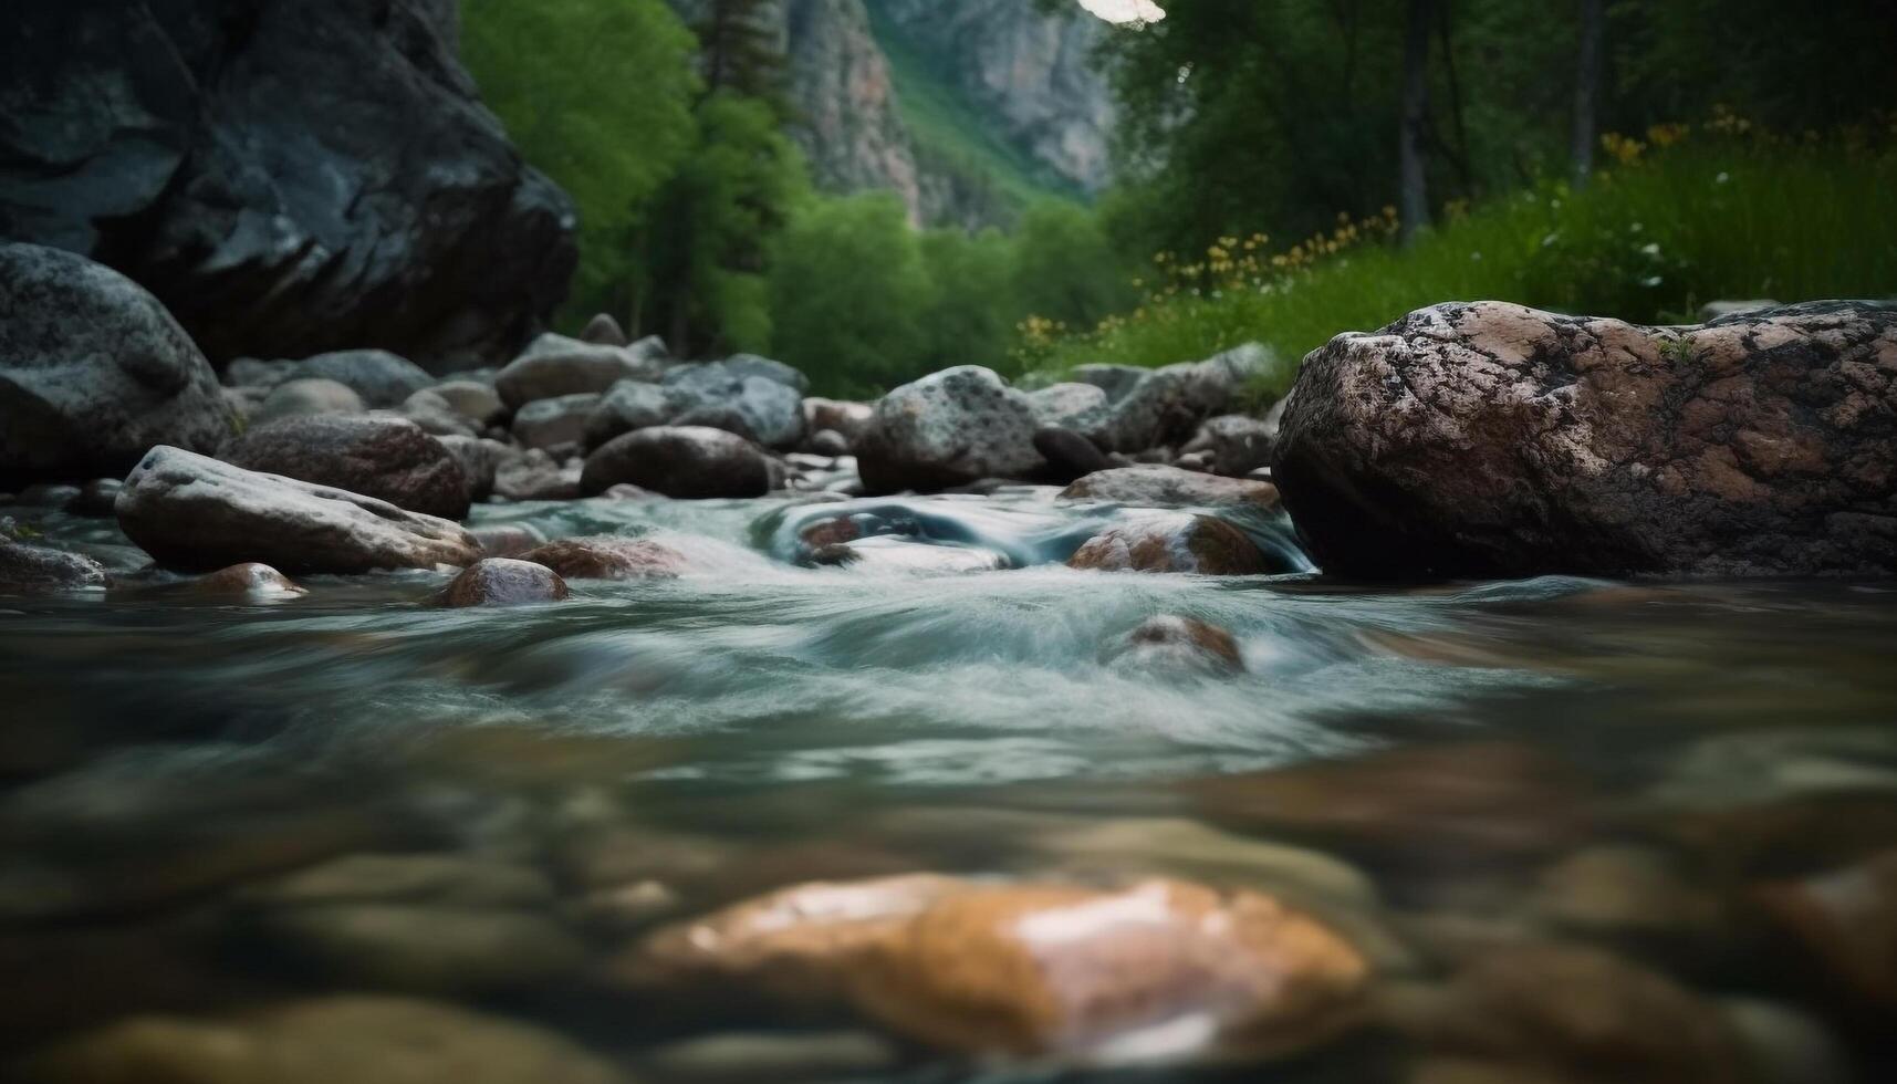
<path fill-rule="evenodd" d="M 838 513 L 884 533 L 886 560 L 799 566 L 801 530 Z M 283 602 L 163 573 L 0 600 L 0 1048 L 398 991 L 639 1080 L 1091 1078 L 797 1004 L 670 1004 L 617 985 L 615 961 L 812 879 L 1161 873 L 1296 902 L 1396 1002 L 1425 991 L 1453 1016 L 1476 959 L 1554 976 L 1525 983 L 1557 993 L 1521 1019 L 1396 1012 L 1269 1078 L 1878 1078 L 1897 1010 L 1893 585 L 1372 589 L 1060 564 L 1127 514 L 1036 488 L 491 505 L 476 524 L 654 537 L 691 571 L 514 609 L 440 609 L 446 573 L 419 571 L 304 577 Z M 137 564 L 108 520 L 36 526 Z M 1286 524 L 1241 526 L 1309 570 Z M 948 570 L 945 549 L 1002 568 Z M 1243 672 L 1125 657 L 1155 615 L 1229 630 Z M 362 852 L 520 873 L 539 888 L 505 906 L 400 904 L 417 930 L 434 907 L 531 934 L 431 955 L 285 921 L 334 907 L 285 904 L 286 877 Z M 1548 945 L 1612 966 L 1575 993 Z M 1586 997 L 1624 1012 L 1588 1016 Z M 1681 1014 L 1717 1021 L 1736 1075 Z"/>

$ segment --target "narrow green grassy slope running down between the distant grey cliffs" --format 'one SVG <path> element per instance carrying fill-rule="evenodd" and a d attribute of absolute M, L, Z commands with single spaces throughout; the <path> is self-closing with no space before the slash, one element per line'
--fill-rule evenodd
<path fill-rule="evenodd" d="M 903 123 L 926 167 L 986 186 L 1007 216 L 1047 196 L 1077 197 L 1045 165 L 983 123 L 981 112 L 958 91 L 941 65 L 869 4 L 869 25 L 890 61 L 890 80 Z"/>

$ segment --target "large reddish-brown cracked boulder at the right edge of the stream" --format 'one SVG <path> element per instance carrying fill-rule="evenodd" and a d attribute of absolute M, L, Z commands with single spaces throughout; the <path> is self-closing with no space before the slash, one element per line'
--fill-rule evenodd
<path fill-rule="evenodd" d="M 1343 575 L 1889 575 L 1897 308 L 1419 309 L 1305 359 L 1273 478 Z"/>

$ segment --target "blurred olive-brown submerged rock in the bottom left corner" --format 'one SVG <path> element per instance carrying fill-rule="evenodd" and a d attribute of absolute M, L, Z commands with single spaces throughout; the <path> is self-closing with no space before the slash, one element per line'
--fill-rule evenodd
<path fill-rule="evenodd" d="M 362 993 L 228 1019 L 135 1016 L 59 1038 L 17 1071 L 21 1084 L 620 1084 L 550 1031 Z"/>

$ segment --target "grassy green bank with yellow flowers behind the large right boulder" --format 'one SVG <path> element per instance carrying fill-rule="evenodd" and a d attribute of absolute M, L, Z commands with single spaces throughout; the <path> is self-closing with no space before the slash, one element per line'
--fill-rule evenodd
<path fill-rule="evenodd" d="M 1229 277 L 1227 277 L 1229 279 Z M 1169 364 L 1243 342 L 1286 364 L 1345 330 L 1373 330 L 1436 302 L 1508 300 L 1639 323 L 1685 323 L 1717 298 L 1897 294 L 1897 154 L 1840 148 L 1677 146 L 1599 177 L 1476 207 L 1411 247 L 1360 243 L 1307 270 L 1150 294 L 1093 332 L 1028 342 L 1040 372 L 1110 361 Z"/>

